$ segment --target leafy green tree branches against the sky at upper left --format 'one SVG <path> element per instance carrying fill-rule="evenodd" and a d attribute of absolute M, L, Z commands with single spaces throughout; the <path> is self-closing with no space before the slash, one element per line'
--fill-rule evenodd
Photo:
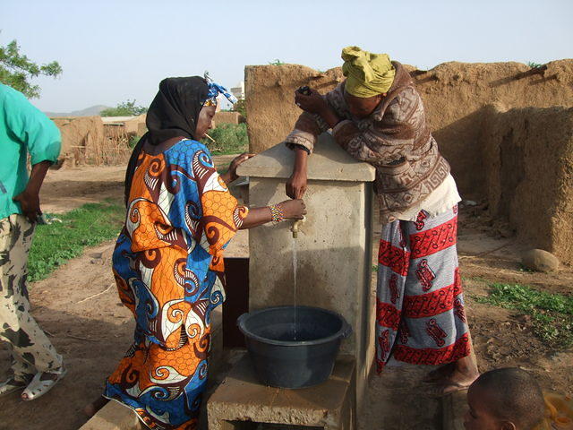
<path fill-rule="evenodd" d="M 62 74 L 62 66 L 57 61 L 38 65 L 20 53 L 20 47 L 13 40 L 0 47 L 0 82 L 19 90 L 29 99 L 39 97 L 39 86 L 30 83 L 39 75 L 56 77 Z"/>

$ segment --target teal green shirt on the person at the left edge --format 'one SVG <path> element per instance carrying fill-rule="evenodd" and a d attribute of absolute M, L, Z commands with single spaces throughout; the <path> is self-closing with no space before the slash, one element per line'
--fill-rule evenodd
<path fill-rule="evenodd" d="M 56 125 L 19 91 L 0 83 L 0 219 L 21 213 L 12 198 L 28 185 L 32 165 L 57 161 L 62 137 Z"/>

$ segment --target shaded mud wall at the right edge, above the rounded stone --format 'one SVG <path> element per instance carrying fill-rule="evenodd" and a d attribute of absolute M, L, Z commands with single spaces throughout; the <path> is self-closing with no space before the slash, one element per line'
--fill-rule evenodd
<path fill-rule="evenodd" d="M 573 107 L 481 111 L 489 211 L 527 244 L 573 263 Z"/>

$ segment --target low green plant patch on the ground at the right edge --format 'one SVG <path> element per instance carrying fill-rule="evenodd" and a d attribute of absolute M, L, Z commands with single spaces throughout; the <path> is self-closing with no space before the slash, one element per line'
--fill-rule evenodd
<path fill-rule="evenodd" d="M 573 296 L 552 294 L 519 284 L 490 286 L 488 297 L 476 301 L 514 309 L 531 317 L 535 335 L 553 349 L 573 346 Z"/>

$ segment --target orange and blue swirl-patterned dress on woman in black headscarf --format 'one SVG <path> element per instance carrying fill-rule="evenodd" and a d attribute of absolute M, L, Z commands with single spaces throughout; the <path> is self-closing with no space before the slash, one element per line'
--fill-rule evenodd
<path fill-rule="evenodd" d="M 104 396 L 133 409 L 151 429 L 197 426 L 210 313 L 224 300 L 216 282 L 222 252 L 247 211 L 200 142 L 185 139 L 158 155 L 141 151 L 113 255 L 135 335 Z"/>

